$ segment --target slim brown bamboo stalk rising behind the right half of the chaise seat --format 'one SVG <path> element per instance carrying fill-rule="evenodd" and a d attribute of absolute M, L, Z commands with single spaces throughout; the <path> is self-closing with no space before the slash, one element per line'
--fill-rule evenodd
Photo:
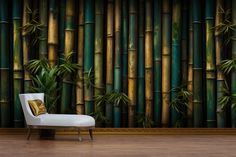
<path fill-rule="evenodd" d="M 79 28 L 78 28 L 78 58 L 79 65 L 76 87 L 76 113 L 84 114 L 84 81 L 83 81 L 83 65 L 84 65 L 84 0 L 79 1 Z"/>

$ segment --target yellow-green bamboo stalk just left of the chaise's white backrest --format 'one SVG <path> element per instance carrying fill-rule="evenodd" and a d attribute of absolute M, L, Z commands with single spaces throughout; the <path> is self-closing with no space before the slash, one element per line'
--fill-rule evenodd
<path fill-rule="evenodd" d="M 14 127 L 23 127 L 24 118 L 19 100 L 19 94 L 23 92 L 23 58 L 21 42 L 21 13 L 22 1 L 13 0 L 13 94 L 14 94 Z"/>

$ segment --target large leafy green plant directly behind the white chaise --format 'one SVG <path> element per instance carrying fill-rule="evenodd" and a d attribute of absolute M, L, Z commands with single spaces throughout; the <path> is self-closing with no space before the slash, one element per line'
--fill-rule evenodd
<path fill-rule="evenodd" d="M 68 55 L 61 65 L 50 66 L 46 58 L 31 60 L 25 65 L 32 79 L 31 91 L 45 94 L 45 106 L 49 113 L 55 112 L 59 99 L 59 95 L 57 95 L 57 91 L 60 89 L 58 80 L 75 74 L 78 69 L 76 63 L 70 62 L 71 56 L 72 54 Z"/>

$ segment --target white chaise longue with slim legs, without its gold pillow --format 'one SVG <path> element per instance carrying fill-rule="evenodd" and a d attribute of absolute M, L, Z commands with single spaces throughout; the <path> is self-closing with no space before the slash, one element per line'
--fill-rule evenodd
<path fill-rule="evenodd" d="M 78 129 L 79 140 L 80 130 L 88 129 L 91 140 L 93 139 L 93 129 L 95 128 L 95 120 L 87 115 L 72 115 L 72 114 L 41 114 L 34 116 L 28 100 L 40 99 L 44 102 L 44 93 L 27 93 L 19 94 L 21 106 L 23 108 L 26 124 L 28 127 L 27 139 L 30 139 L 31 128 L 57 128 L 70 127 Z"/>

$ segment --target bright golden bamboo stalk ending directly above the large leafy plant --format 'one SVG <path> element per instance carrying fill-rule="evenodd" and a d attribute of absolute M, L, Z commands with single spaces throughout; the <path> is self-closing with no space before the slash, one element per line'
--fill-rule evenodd
<path fill-rule="evenodd" d="M 58 47 L 58 3 L 56 3 L 56 0 L 49 0 L 48 61 L 50 65 L 57 64 L 57 47 Z"/>

